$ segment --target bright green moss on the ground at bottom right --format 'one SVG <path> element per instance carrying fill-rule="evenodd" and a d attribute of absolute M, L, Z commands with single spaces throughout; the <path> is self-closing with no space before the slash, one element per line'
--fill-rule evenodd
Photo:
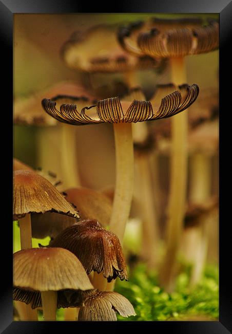
<path fill-rule="evenodd" d="M 158 285 L 155 274 L 146 273 L 146 266 L 138 265 L 131 273 L 130 282 L 117 281 L 115 291 L 124 295 L 134 306 L 136 317 L 118 321 L 188 320 L 204 316 L 207 320 L 219 318 L 218 268 L 207 265 L 199 284 L 188 287 L 189 267 L 176 281 L 175 292 L 167 293 Z"/>

